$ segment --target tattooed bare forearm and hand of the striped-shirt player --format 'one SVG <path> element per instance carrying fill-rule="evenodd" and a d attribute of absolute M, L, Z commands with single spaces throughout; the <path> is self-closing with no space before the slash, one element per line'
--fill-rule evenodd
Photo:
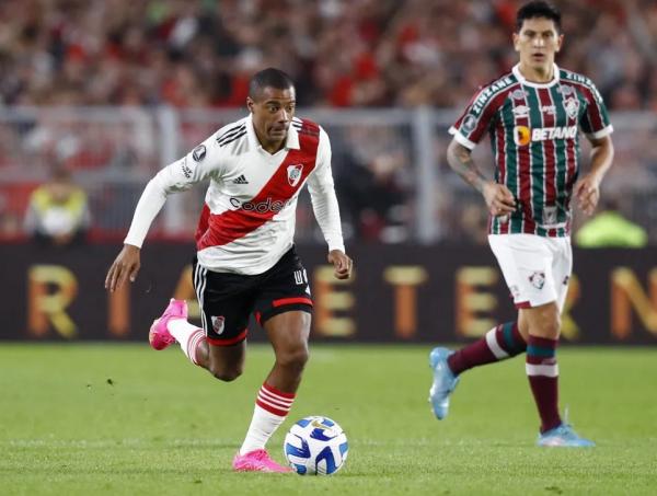
<path fill-rule="evenodd" d="M 472 150 L 459 142 L 458 136 L 447 147 L 449 166 L 482 194 L 492 216 L 505 216 L 515 211 L 516 200 L 509 188 L 482 174 L 472 159 Z"/>

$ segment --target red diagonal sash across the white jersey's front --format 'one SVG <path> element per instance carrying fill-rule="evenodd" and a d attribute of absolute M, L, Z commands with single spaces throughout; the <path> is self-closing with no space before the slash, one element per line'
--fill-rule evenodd
<path fill-rule="evenodd" d="M 196 240 L 198 251 L 209 246 L 221 246 L 244 238 L 272 220 L 280 211 L 280 208 L 269 207 L 277 203 L 285 205 L 295 196 L 315 166 L 320 142 L 318 129 L 316 125 L 303 122 L 303 126 L 298 132 L 300 149 L 288 151 L 287 157 L 267 184 L 249 201 L 253 206 L 252 209 L 244 210 L 240 207 L 237 210 L 209 215 L 206 231 Z M 293 185 L 288 171 L 288 168 L 292 165 L 303 165 L 301 177 L 299 181 L 295 181 Z M 201 222 L 199 222 L 199 228 L 200 226 Z"/>

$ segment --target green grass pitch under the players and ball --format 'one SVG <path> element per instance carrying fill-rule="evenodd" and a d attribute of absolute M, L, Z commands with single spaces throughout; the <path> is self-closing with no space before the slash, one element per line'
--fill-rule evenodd
<path fill-rule="evenodd" d="M 463 376 L 450 416 L 426 402 L 429 347 L 313 346 L 291 419 L 349 439 L 332 477 L 237 474 L 231 459 L 270 367 L 221 383 L 177 349 L 0 346 L 0 494 L 655 494 L 657 349 L 560 350 L 562 406 L 588 450 L 540 449 L 522 358 Z M 269 442 L 283 461 L 291 422 Z"/>

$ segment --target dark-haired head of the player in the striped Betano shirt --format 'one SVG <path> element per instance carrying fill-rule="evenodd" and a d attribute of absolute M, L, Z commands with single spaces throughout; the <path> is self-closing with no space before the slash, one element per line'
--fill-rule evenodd
<path fill-rule="evenodd" d="M 549 70 L 563 43 L 561 12 L 542 0 L 522 5 L 516 15 L 514 47 L 520 64 L 537 70 Z"/>

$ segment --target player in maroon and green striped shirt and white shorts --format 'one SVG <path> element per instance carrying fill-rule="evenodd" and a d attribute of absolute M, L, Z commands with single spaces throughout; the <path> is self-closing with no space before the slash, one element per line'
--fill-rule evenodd
<path fill-rule="evenodd" d="M 514 47 L 519 64 L 482 88 L 450 132 L 450 166 L 484 197 L 488 241 L 518 309 L 458 351 L 435 348 L 429 401 L 438 419 L 460 374 L 473 367 L 526 354 L 526 371 L 541 417 L 539 446 L 587 447 L 558 412 L 556 346 L 560 314 L 572 270 L 570 200 L 590 215 L 611 166 L 612 131 L 593 83 L 558 68 L 561 13 L 545 1 L 517 12 Z M 579 177 L 580 128 L 592 145 L 590 171 Z M 495 181 L 474 164 L 471 151 L 485 132 L 495 157 Z"/>

